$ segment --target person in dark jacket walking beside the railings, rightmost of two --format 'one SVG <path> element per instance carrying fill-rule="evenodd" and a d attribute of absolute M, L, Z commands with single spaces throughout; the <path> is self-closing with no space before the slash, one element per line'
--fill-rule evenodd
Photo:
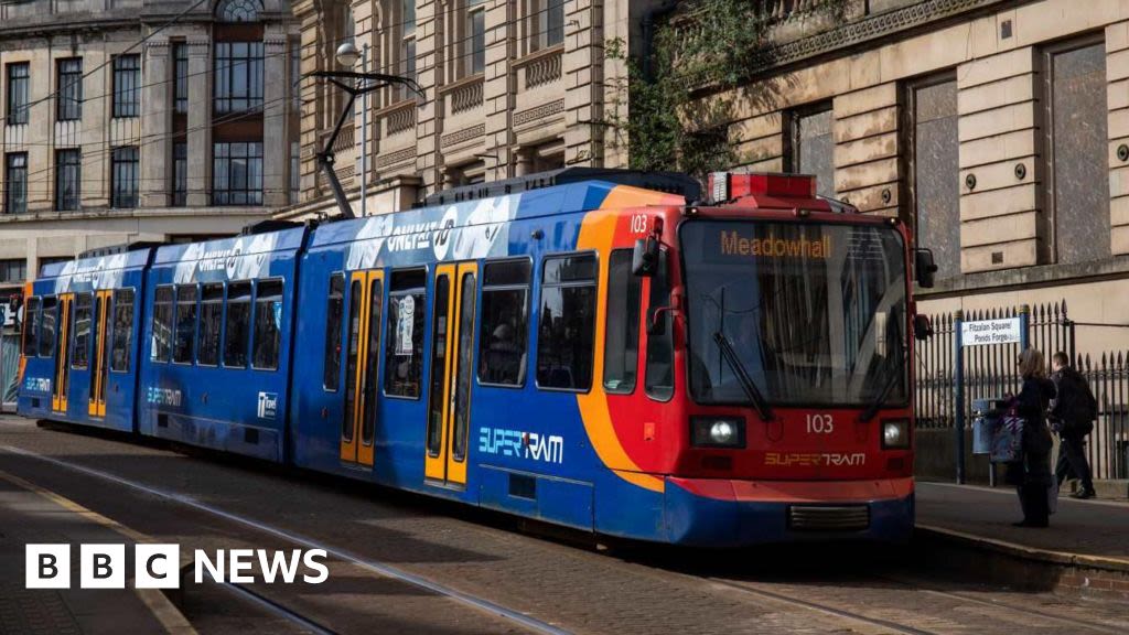
<path fill-rule="evenodd" d="M 1094 395 L 1086 385 L 1086 379 L 1070 366 L 1065 353 L 1051 356 L 1051 380 L 1058 394 L 1051 403 L 1048 418 L 1059 435 L 1059 458 L 1054 466 L 1054 478 L 1059 486 L 1068 473 L 1082 480 L 1082 489 L 1071 498 L 1093 498 L 1094 477 L 1086 461 L 1086 435 L 1094 429 L 1092 419 Z"/>

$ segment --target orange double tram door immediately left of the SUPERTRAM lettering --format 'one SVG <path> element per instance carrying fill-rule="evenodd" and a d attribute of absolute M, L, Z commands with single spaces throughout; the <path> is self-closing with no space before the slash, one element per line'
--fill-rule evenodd
<path fill-rule="evenodd" d="M 440 264 L 435 275 L 435 322 L 423 473 L 435 485 L 466 486 L 466 447 L 474 375 L 478 264 Z"/>

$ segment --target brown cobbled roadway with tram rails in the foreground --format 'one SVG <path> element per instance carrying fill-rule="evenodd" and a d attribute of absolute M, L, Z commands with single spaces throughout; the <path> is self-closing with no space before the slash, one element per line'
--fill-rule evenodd
<path fill-rule="evenodd" d="M 10 419 L 0 419 L 0 445 L 183 493 L 575 633 L 912 632 L 899 629 L 899 625 L 919 632 L 978 635 L 1019 629 L 1025 635 L 1129 630 L 1126 607 L 1086 606 L 1053 595 L 982 590 L 966 583 L 942 585 L 943 593 L 965 593 L 982 601 L 963 600 L 930 592 L 918 582 L 907 584 L 883 577 L 889 573 L 883 567 L 896 569 L 896 563 L 875 565 L 879 569 L 875 573 L 882 576 L 872 576 L 866 560 L 825 558 L 819 549 L 791 550 L 786 556 L 762 551 L 732 556 L 679 553 L 668 557 L 656 556 L 651 549 L 615 550 L 609 555 L 516 533 L 507 521 L 493 514 L 466 512 L 421 496 L 340 479 L 289 475 L 245 461 L 185 456 L 117 440 L 40 429 Z M 277 538 L 176 510 L 175 504 L 139 496 L 121 486 L 76 487 L 75 473 L 45 469 L 34 459 L 9 454 L 5 461 L 18 466 L 24 478 L 30 480 L 28 475 L 34 473 L 40 485 L 65 489 L 61 493 L 79 503 L 163 539 L 226 548 L 238 543 L 283 547 Z M 793 573 L 780 565 L 781 558 L 798 558 L 805 566 Z M 761 559 L 772 563 L 762 566 Z M 304 615 L 360 616 L 339 617 L 334 626 L 341 632 L 374 620 L 385 620 L 397 630 L 412 630 L 419 620 L 434 621 L 436 628 L 431 632 L 520 630 L 514 623 L 470 611 L 448 600 L 437 602 L 418 589 L 404 589 L 386 579 L 374 580 L 370 572 L 350 567 L 334 565 L 332 584 L 317 591 L 288 591 L 285 600 L 288 606 L 300 607 Z M 925 581 L 931 584 L 928 572 L 918 573 L 924 573 Z M 752 585 L 784 598 L 751 593 L 734 584 Z M 273 592 L 275 588 L 271 589 Z M 788 598 L 802 599 L 808 606 Z M 990 606 L 997 600 L 1015 607 Z M 1085 618 L 1097 626 L 1084 630 L 1039 616 L 1033 612 L 1036 610 Z M 869 620 L 885 620 L 892 626 Z"/>

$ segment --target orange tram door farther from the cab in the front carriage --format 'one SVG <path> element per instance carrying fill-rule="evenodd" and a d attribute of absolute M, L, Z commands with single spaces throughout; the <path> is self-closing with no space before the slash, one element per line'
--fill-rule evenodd
<path fill-rule="evenodd" d="M 353 271 L 344 349 L 345 416 L 341 420 L 341 460 L 347 463 L 373 466 L 383 323 L 384 271 Z"/>

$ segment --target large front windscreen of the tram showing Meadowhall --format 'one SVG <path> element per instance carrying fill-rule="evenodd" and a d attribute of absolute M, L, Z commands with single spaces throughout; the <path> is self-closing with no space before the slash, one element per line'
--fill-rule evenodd
<path fill-rule="evenodd" d="M 893 227 L 701 219 L 681 240 L 695 401 L 747 403 L 744 373 L 772 405 L 905 403 Z"/>

